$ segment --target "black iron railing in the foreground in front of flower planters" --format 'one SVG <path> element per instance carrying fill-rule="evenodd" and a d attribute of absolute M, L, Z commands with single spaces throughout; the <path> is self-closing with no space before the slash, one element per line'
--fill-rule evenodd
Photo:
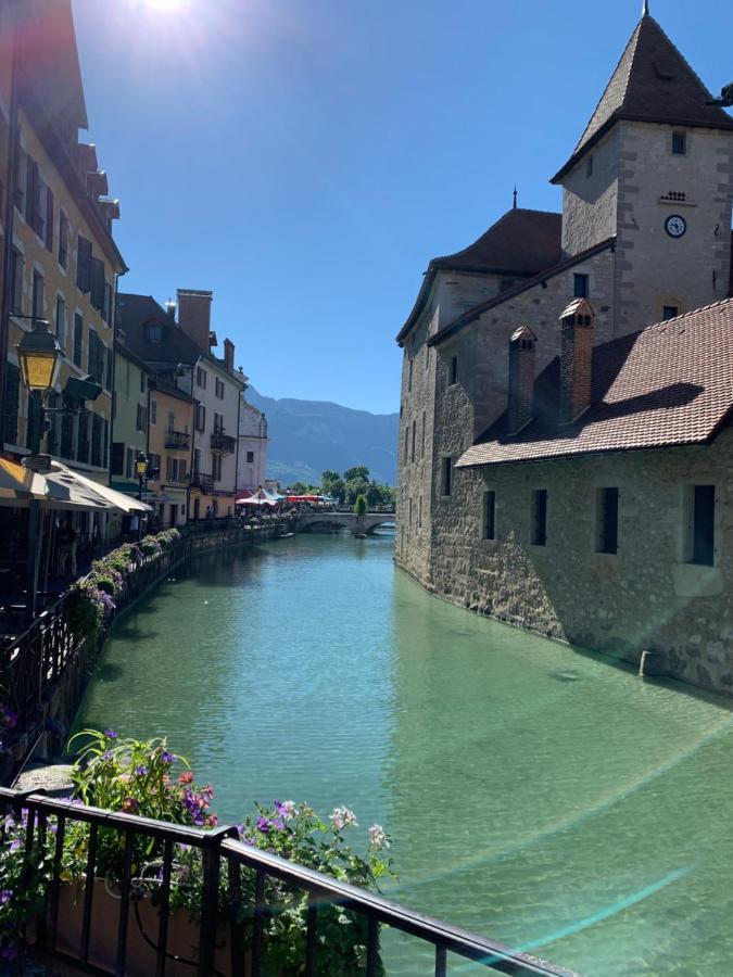
<path fill-rule="evenodd" d="M 24 823 L 24 857 L 26 871 L 30 873 L 38 864 L 39 858 L 46 855 L 51 860 L 51 884 L 46 887 L 45 904 L 33 925 L 24 926 L 18 932 L 18 950 L 21 960 L 26 949 L 26 941 L 35 932 L 35 941 L 45 954 L 64 960 L 69 964 L 81 965 L 84 969 L 97 974 L 123 975 L 126 973 L 128 955 L 129 929 L 131 916 L 135 915 L 140 929 L 140 917 L 136 902 L 142 892 L 150 894 L 154 887 L 159 910 L 157 931 L 146 932 L 144 938 L 155 952 L 156 977 L 164 977 L 168 948 L 168 924 L 170 922 L 170 886 L 174 878 L 175 857 L 179 846 L 189 846 L 201 852 L 202 891 L 201 923 L 198 930 L 198 947 L 192 948 L 195 959 L 188 963 L 197 967 L 199 977 L 212 977 L 217 973 L 215 964 L 217 935 L 225 924 L 229 929 L 230 973 L 232 977 L 252 975 L 258 977 L 263 961 L 263 924 L 277 906 L 266 902 L 267 878 L 279 879 L 288 887 L 307 893 L 307 930 L 304 948 L 303 974 L 306 977 L 318 975 L 319 940 L 328 939 L 319 930 L 319 914 L 324 906 L 338 905 L 357 913 L 366 919 L 366 974 L 376 977 L 379 973 L 379 934 L 381 926 L 407 934 L 434 948 L 432 972 L 435 977 L 445 977 L 447 973 L 447 954 L 454 953 L 464 960 L 470 960 L 488 969 L 502 974 L 546 975 L 546 977 L 572 977 L 569 970 L 553 966 L 546 961 L 526 953 L 516 952 L 501 943 L 483 939 L 439 919 L 412 912 L 395 902 L 383 899 L 374 892 L 367 892 L 346 883 L 304 868 L 278 855 L 243 845 L 238 840 L 236 827 L 218 827 L 213 830 L 187 827 L 153 821 L 134 814 L 102 811 L 74 804 L 66 799 L 47 797 L 42 794 L 27 794 L 17 790 L 0 789 L 0 810 L 13 813 L 16 824 Z M 26 811 L 25 820 L 21 817 Z M 74 942 L 69 943 L 68 934 L 61 931 L 60 896 L 62 888 L 62 854 L 64 837 L 69 824 L 81 822 L 89 825 L 86 838 L 86 873 L 83 879 L 84 891 L 80 896 L 80 932 L 73 934 Z M 100 830 L 115 830 L 119 835 L 119 850 L 123 853 L 119 891 L 116 894 L 118 908 L 115 913 L 116 927 L 110 924 L 104 930 L 105 943 L 109 943 L 109 966 L 100 966 L 90 960 L 92 937 L 92 917 L 99 889 L 94 887 L 96 870 L 99 854 Z M 155 861 L 155 875 L 143 879 L 134 873 L 139 866 L 134 864 L 134 847 L 136 840 L 144 839 L 146 850 L 160 853 Z M 226 875 L 223 868 L 226 867 Z M 250 877 L 244 879 L 244 873 Z M 227 898 L 219 900 L 222 879 L 227 879 Z M 248 888 L 254 892 L 252 901 L 243 894 L 243 883 L 254 881 Z M 141 887 L 141 883 L 144 885 Z M 147 888 L 146 888 L 147 886 Z M 245 948 L 244 928 L 251 932 L 249 946 Z M 115 931 L 116 929 L 116 931 Z M 99 932 L 99 929 L 97 930 Z M 60 937 L 63 947 L 60 947 Z M 99 955 L 99 946 L 94 947 Z M 151 970 L 152 973 L 152 970 Z M 420 973 L 427 973 L 422 969 Z"/>

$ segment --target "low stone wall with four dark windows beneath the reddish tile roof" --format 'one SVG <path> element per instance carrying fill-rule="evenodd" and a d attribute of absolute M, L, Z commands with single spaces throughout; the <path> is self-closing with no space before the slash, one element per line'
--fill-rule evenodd
<path fill-rule="evenodd" d="M 658 652 L 684 682 L 733 693 L 733 431 L 712 445 L 456 473 L 459 529 L 435 529 L 431 588 L 481 613 L 639 662 Z M 715 566 L 685 562 L 685 490 L 716 486 Z M 596 553 L 597 490 L 619 488 L 617 554 Z M 530 543 L 547 490 L 547 541 Z M 482 538 L 482 493 L 496 538 Z"/>

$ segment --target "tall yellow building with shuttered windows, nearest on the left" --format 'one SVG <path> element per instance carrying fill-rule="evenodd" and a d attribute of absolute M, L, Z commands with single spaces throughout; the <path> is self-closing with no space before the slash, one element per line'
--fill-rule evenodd
<path fill-rule="evenodd" d="M 69 0 L 14 4 L 16 61 L 0 59 L 0 152 L 15 150 L 10 192 L 3 189 L 2 248 L 9 280 L 4 292 L 8 354 L 4 452 L 28 452 L 28 397 L 15 346 L 34 318 L 47 319 L 63 350 L 48 406 L 62 407 L 71 377 L 90 376 L 101 394 L 81 411 L 50 413 L 41 449 L 108 482 L 114 375 L 114 296 L 127 269 L 112 238 L 117 201 L 105 199 L 106 175 L 93 145 L 78 142 L 87 127 Z M 8 12 L 0 9 L 3 43 Z M 11 55 L 7 49 L 1 52 Z M 17 138 L 13 134 L 17 120 Z M 13 143 L 15 143 L 13 145 Z M 5 170 L 0 161 L 0 174 Z M 12 205 L 8 206 L 12 199 Z M 10 251 L 10 253 L 8 253 Z M 31 423 L 38 422 L 31 418 Z"/>

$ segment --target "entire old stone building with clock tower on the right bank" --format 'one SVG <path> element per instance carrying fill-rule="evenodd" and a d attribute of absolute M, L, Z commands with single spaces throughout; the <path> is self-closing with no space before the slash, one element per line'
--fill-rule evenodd
<path fill-rule="evenodd" d="M 515 204 L 430 262 L 397 337 L 396 561 L 724 688 L 733 119 L 710 100 L 645 14 L 553 178 L 561 213 Z"/>

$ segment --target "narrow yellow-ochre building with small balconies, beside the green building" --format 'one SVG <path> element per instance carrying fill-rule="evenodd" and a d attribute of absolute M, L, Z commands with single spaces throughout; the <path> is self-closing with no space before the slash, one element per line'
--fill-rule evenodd
<path fill-rule="evenodd" d="M 161 529 L 182 525 L 188 512 L 195 401 L 181 390 L 150 380 L 148 492 Z"/>

